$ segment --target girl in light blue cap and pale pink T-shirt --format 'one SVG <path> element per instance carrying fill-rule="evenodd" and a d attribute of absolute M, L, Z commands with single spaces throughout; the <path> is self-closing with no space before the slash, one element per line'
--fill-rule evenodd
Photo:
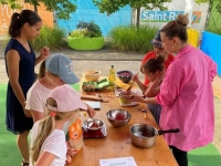
<path fill-rule="evenodd" d="M 25 108 L 31 112 L 32 118 L 35 122 L 45 117 L 45 104 L 49 93 L 56 86 L 65 83 L 75 84 L 78 82 L 73 72 L 73 63 L 66 55 L 52 54 L 49 59 L 42 62 L 38 81 L 31 86 L 27 94 Z M 91 117 L 95 115 L 95 111 L 87 105 L 87 113 Z M 69 123 L 65 123 L 63 131 L 67 134 Z M 67 163 L 72 162 L 74 148 L 70 146 L 67 151 Z"/>

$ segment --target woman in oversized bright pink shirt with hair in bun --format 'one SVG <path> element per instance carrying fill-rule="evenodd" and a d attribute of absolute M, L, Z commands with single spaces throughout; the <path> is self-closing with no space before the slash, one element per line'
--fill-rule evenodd
<path fill-rule="evenodd" d="M 160 104 L 161 129 L 180 128 L 166 134 L 179 166 L 188 166 L 187 153 L 206 146 L 213 139 L 214 105 L 212 80 L 217 64 L 202 51 L 187 44 L 186 15 L 178 15 L 160 32 L 165 50 L 176 53 L 156 97 L 135 96 L 133 101 Z"/>

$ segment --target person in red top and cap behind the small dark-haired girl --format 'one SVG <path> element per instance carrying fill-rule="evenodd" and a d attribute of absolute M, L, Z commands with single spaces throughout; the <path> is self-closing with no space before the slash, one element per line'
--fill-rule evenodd
<path fill-rule="evenodd" d="M 173 61 L 175 56 L 170 53 L 168 53 L 162 43 L 161 43 L 161 39 L 160 39 L 160 30 L 157 31 L 157 33 L 155 34 L 155 38 L 151 40 L 150 42 L 154 45 L 154 51 L 148 52 L 143 61 L 141 61 L 141 65 L 140 65 L 140 72 L 143 72 L 143 65 L 150 59 L 155 59 L 159 55 L 161 55 L 164 58 L 164 69 L 165 71 L 167 71 L 168 66 L 170 65 L 170 63 Z M 144 81 L 144 85 L 148 85 L 149 84 L 149 79 L 147 76 L 145 76 L 145 81 Z"/>

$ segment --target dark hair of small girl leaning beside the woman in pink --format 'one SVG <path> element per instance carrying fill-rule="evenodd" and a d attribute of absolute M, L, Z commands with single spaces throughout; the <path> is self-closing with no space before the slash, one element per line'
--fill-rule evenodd
<path fill-rule="evenodd" d="M 148 71 L 150 73 L 155 73 L 157 71 L 164 71 L 164 62 L 165 59 L 161 55 L 158 55 L 156 59 L 148 60 L 143 65 L 143 70 Z"/>

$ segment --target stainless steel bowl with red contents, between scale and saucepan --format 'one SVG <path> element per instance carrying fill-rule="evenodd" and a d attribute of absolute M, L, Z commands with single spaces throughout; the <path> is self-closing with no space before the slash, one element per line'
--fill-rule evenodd
<path fill-rule="evenodd" d="M 115 127 L 122 127 L 129 123 L 131 114 L 125 110 L 110 110 L 106 113 L 108 122 Z"/>

